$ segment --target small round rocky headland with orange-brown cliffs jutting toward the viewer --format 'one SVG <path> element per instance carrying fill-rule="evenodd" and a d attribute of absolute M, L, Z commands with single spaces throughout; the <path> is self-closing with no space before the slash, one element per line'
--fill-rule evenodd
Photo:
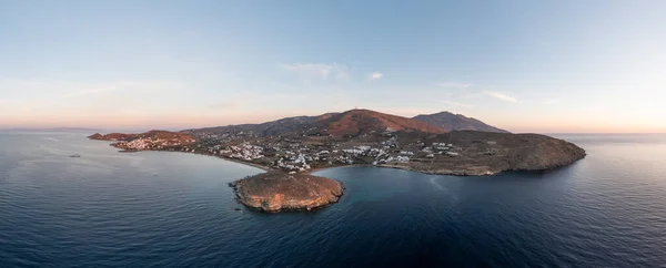
<path fill-rule="evenodd" d="M 336 203 L 337 181 L 305 174 L 264 173 L 231 183 L 236 199 L 264 212 L 313 209 Z"/>

